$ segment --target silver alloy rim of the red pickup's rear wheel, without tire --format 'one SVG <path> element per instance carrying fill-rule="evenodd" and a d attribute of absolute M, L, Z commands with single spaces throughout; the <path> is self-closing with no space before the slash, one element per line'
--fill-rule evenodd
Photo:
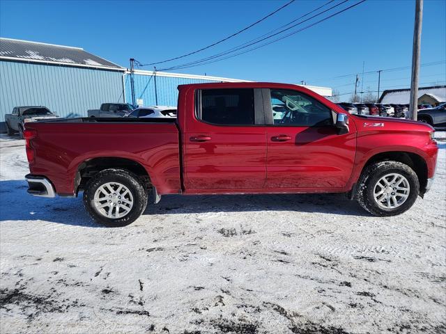
<path fill-rule="evenodd" d="M 122 218 L 133 207 L 130 190 L 121 183 L 107 182 L 95 192 L 95 209 L 107 218 Z"/>

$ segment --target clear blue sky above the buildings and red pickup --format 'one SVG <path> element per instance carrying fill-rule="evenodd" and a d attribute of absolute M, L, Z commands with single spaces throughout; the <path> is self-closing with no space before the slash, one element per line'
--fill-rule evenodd
<path fill-rule="evenodd" d="M 339 9 L 358 1 L 348 1 Z M 128 67 L 130 57 L 141 63 L 151 63 L 209 45 L 243 29 L 286 2 L 0 0 L 0 35 L 83 47 Z M 195 61 L 240 45 L 326 2 L 328 0 L 296 0 L 235 38 L 167 65 Z M 353 74 L 362 72 L 363 62 L 365 72 L 410 65 L 414 15 L 413 0 L 368 0 L 261 49 L 175 72 L 255 81 L 299 83 L 305 80 L 307 84 L 330 86 L 341 93 L 348 93 L 354 89 Z M 425 0 L 421 63 L 443 63 L 420 69 L 421 86 L 445 84 L 445 60 L 446 1 Z M 157 68 L 163 66 L 158 65 Z M 344 74 L 352 75 L 332 79 Z M 410 70 L 383 72 L 381 79 L 381 90 L 405 88 L 410 80 Z M 377 81 L 377 74 L 366 74 L 364 90 L 376 90 Z"/>

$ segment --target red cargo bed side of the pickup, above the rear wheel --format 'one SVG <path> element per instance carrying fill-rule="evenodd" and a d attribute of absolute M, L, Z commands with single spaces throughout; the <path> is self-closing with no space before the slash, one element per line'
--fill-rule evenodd
<path fill-rule="evenodd" d="M 36 130 L 33 175 L 49 178 L 59 195 L 75 194 L 75 176 L 86 160 L 118 157 L 154 175 L 159 193 L 180 191 L 178 127 L 170 118 L 62 118 L 30 122 Z M 160 175 L 162 179 L 157 179 Z"/>

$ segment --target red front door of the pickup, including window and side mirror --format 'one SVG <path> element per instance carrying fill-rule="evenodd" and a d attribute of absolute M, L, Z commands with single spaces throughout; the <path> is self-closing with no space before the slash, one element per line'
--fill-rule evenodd
<path fill-rule="evenodd" d="M 263 90 L 267 122 L 266 188 L 341 188 L 355 159 L 355 128 L 334 127 L 336 113 L 318 95 Z M 269 119 L 268 119 L 269 118 Z"/>

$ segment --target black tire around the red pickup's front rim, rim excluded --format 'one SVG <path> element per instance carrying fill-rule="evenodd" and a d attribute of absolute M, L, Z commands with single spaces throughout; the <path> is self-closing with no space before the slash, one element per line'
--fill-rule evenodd
<path fill-rule="evenodd" d="M 381 177 L 390 173 L 398 173 L 406 177 L 410 185 L 408 198 L 399 207 L 384 209 L 374 198 L 375 184 Z M 365 168 L 357 183 L 357 202 L 374 216 L 397 216 L 406 212 L 417 200 L 420 193 L 420 182 L 412 168 L 398 161 L 381 161 Z"/>

